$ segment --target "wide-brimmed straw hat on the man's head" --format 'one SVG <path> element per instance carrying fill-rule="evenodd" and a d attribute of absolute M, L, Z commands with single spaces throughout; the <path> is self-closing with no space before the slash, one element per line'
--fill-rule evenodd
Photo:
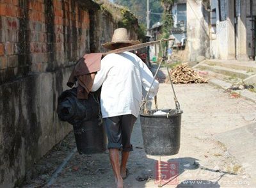
<path fill-rule="evenodd" d="M 103 47 L 109 50 L 114 50 L 118 47 L 115 47 L 116 43 L 125 43 L 127 45 L 135 45 L 140 43 L 138 40 L 129 40 L 128 31 L 125 28 L 115 29 L 114 34 L 112 36 L 111 42 L 106 42 L 102 44 Z"/>

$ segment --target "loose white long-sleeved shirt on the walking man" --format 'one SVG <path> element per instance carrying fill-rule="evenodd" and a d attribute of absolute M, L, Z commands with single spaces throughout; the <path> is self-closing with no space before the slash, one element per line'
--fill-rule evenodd
<path fill-rule="evenodd" d="M 102 117 L 133 114 L 138 117 L 142 100 L 142 87 L 154 97 L 158 91 L 158 81 L 143 61 L 131 52 L 108 54 L 100 62 L 100 70 L 95 75 L 92 91 L 102 86 L 100 106 Z"/>

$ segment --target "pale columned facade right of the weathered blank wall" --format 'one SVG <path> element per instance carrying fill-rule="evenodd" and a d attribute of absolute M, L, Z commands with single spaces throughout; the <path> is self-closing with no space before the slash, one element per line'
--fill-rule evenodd
<path fill-rule="evenodd" d="M 247 61 L 248 55 L 252 54 L 252 22 L 248 19 L 250 1 L 225 0 L 219 5 L 217 0 L 212 0 L 211 10 L 216 10 L 216 26 L 212 26 L 216 28 L 211 33 L 211 58 Z"/>

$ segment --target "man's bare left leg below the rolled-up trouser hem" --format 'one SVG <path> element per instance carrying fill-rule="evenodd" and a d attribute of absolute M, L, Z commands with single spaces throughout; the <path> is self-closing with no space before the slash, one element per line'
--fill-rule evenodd
<path fill-rule="evenodd" d="M 123 178 L 120 174 L 119 151 L 118 149 L 109 149 L 109 159 L 115 174 L 117 187 L 123 187 Z"/>

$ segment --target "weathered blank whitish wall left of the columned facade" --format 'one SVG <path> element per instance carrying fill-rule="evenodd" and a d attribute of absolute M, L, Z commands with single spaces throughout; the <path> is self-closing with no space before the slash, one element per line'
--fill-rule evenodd
<path fill-rule="evenodd" d="M 209 12 L 202 1 L 187 1 L 187 22 L 188 60 L 196 61 L 198 56 L 210 58 Z"/>

